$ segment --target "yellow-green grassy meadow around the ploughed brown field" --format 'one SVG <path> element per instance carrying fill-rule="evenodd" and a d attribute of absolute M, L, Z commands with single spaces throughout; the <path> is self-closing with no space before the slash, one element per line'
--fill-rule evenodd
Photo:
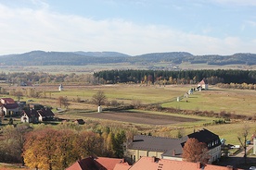
<path fill-rule="evenodd" d="M 145 122 L 133 122 L 132 119 L 126 114 L 126 119 L 112 119 L 108 120 L 103 118 L 103 116 L 96 113 L 97 106 L 88 103 L 92 96 L 96 94 L 96 91 L 104 91 L 107 96 L 108 101 L 117 101 L 119 103 L 159 103 L 162 107 L 173 107 L 182 110 L 199 110 L 199 111 L 213 111 L 219 113 L 221 111 L 229 112 L 231 114 L 237 115 L 256 115 L 256 104 L 254 104 L 254 99 L 256 96 L 256 91 L 249 90 L 226 90 L 217 87 L 210 87 L 209 91 L 195 91 L 187 99 L 183 99 L 180 102 L 176 101 L 178 96 L 183 96 L 186 91 L 194 88 L 192 85 L 167 85 L 167 86 L 146 86 L 146 85 L 97 85 L 97 86 L 69 86 L 64 85 L 64 91 L 58 91 L 57 85 L 39 85 L 33 87 L 6 87 L 15 88 L 16 91 L 26 91 L 26 89 L 34 88 L 35 91 L 45 91 L 45 98 L 28 98 L 21 97 L 21 101 L 32 100 L 30 103 L 42 103 L 53 107 L 53 111 L 56 112 L 58 105 L 58 97 L 67 97 L 70 101 L 69 111 L 58 114 L 59 117 L 75 119 L 83 118 L 84 120 L 95 120 L 106 122 L 115 122 L 116 124 L 121 124 L 123 126 L 139 127 L 142 131 L 151 132 L 153 135 L 160 136 L 171 136 L 175 137 L 178 131 L 186 135 L 200 128 L 207 128 L 212 132 L 218 134 L 220 138 L 224 138 L 228 143 L 239 144 L 237 136 L 240 136 L 245 126 L 250 128 L 249 138 L 251 134 L 256 130 L 255 122 L 244 121 L 244 120 L 232 120 L 228 124 L 222 125 L 211 125 L 213 120 L 217 120 L 216 117 L 204 117 L 197 115 L 180 115 L 172 113 L 163 112 L 153 112 L 153 111 L 140 111 L 133 110 L 133 114 L 143 113 L 145 115 L 154 115 L 156 117 L 155 121 L 160 121 L 164 116 L 182 118 L 194 118 L 197 121 L 185 121 L 185 122 L 174 122 L 164 125 L 150 125 Z M 2 96 L 7 97 L 7 96 Z M 16 96 L 12 96 L 17 100 Z M 80 98 L 84 101 L 83 103 L 77 103 L 75 100 Z M 187 102 L 186 102 L 187 100 Z M 103 106 L 107 107 L 107 106 Z M 98 114 L 98 116 L 91 116 L 92 114 Z M 101 113 L 104 114 L 104 113 Z M 110 113 L 109 113 L 110 114 Z M 115 113 L 117 114 L 117 113 Z M 142 114 L 141 114 L 142 115 Z M 161 119 L 158 117 L 162 115 Z M 113 117 L 118 115 L 112 115 Z M 122 116 L 122 115 L 120 115 Z M 147 116 L 144 117 L 145 119 Z M 143 117 L 142 117 L 143 119 Z M 152 119 L 152 118 L 151 118 Z M 131 121 L 130 121 L 131 120 Z M 207 126 L 205 126 L 207 124 Z"/>

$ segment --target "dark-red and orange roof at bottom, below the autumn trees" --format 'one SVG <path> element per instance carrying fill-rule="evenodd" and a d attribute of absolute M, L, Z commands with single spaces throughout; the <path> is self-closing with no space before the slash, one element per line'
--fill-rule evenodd
<path fill-rule="evenodd" d="M 66 170 L 128 170 L 130 165 L 123 159 L 87 157 L 72 164 Z"/>

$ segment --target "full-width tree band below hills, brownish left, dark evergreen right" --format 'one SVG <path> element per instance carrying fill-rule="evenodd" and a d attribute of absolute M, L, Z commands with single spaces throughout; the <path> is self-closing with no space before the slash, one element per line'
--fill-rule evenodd
<path fill-rule="evenodd" d="M 209 84 L 256 84 L 255 70 L 104 70 L 92 74 L 49 74 L 43 72 L 0 73 L 0 80 L 20 86 L 42 83 L 76 84 L 196 84 L 205 79 Z"/>

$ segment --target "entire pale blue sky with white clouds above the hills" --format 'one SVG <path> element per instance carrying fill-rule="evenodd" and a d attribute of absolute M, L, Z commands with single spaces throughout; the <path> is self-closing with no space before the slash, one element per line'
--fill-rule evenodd
<path fill-rule="evenodd" d="M 256 54 L 255 0 L 0 0 L 0 55 Z"/>

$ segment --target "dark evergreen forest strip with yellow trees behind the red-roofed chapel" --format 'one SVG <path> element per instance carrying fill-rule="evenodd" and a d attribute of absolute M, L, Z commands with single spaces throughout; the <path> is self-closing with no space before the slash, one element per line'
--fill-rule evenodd
<path fill-rule="evenodd" d="M 103 70 L 95 72 L 99 83 L 195 84 L 206 79 L 209 84 L 256 83 L 255 70 Z"/>

